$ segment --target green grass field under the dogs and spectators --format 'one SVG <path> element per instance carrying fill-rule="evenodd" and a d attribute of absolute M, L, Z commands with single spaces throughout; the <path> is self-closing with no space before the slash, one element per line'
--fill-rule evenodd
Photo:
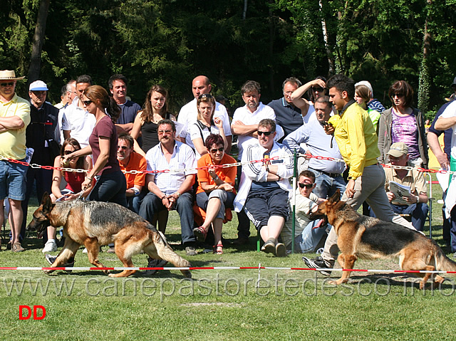
<path fill-rule="evenodd" d="M 433 188 L 433 196 L 440 199 L 437 185 Z M 432 234 L 440 245 L 441 221 L 441 205 L 435 201 Z M 235 238 L 236 226 L 234 217 L 224 226 L 224 238 Z M 188 258 L 179 245 L 178 216 L 172 212 L 167 237 L 193 266 L 304 267 L 299 254 L 274 258 L 257 253 L 257 234 L 251 231 L 249 246 L 226 244 L 221 256 L 200 248 L 197 256 Z M 24 246 L 27 250 L 19 254 L 3 246 L 1 266 L 47 265 L 41 240 L 31 234 Z M 100 261 L 122 266 L 105 252 Z M 133 262 L 147 266 L 144 255 Z M 76 266 L 91 266 L 81 251 Z M 358 261 L 356 268 L 398 265 Z M 285 269 L 198 270 L 192 271 L 193 280 L 174 270 L 150 277 L 137 273 L 128 279 L 108 278 L 101 271 L 56 271 L 51 276 L 1 271 L 0 276 L 4 340 L 453 340 L 456 331 L 454 278 L 442 288 L 419 290 L 417 279 L 398 273 L 354 273 L 351 283 L 335 288 L 314 271 Z M 19 320 L 19 305 L 41 305 L 46 317 Z"/>

